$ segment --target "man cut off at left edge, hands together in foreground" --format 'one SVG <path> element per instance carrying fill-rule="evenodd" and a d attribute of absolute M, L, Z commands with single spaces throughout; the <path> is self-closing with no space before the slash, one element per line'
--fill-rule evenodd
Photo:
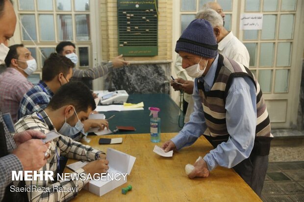
<path fill-rule="evenodd" d="M 0 65 L 3 65 L 9 51 L 7 41 L 14 35 L 16 26 L 14 7 L 9 0 L 0 0 L 0 24 Z M 48 144 L 40 140 L 44 137 L 32 130 L 12 136 L 0 111 L 0 202 L 27 201 L 24 193 L 10 191 L 11 185 L 23 186 L 23 182 L 12 181 L 12 171 L 38 170 L 46 163 Z"/>

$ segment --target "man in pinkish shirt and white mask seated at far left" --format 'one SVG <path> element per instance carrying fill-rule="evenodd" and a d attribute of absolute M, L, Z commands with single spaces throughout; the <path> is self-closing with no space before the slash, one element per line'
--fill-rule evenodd
<path fill-rule="evenodd" d="M 5 65 L 6 70 L 0 74 L 0 109 L 10 113 L 15 123 L 22 97 L 33 87 L 26 78 L 37 69 L 37 63 L 24 45 L 17 44 L 9 47 Z"/>

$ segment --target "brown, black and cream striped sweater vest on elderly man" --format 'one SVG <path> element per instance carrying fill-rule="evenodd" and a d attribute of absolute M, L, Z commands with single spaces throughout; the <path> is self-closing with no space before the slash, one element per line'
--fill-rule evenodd
<path fill-rule="evenodd" d="M 213 86 L 210 91 L 205 91 L 203 83 L 197 80 L 198 90 L 202 98 L 203 112 L 207 129 L 203 135 L 216 147 L 223 141 L 227 141 L 229 134 L 226 125 L 225 101 L 228 95 L 232 79 L 234 77 L 248 76 L 252 79 L 256 88 L 256 114 L 257 122 L 255 129 L 255 139 L 252 153 L 256 155 L 268 155 L 271 134 L 269 115 L 262 91 L 252 72 L 242 64 L 223 57 L 219 54 L 218 66 L 215 73 Z"/>

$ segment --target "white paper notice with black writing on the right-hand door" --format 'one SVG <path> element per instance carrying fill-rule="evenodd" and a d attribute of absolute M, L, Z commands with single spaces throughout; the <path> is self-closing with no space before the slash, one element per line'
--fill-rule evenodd
<path fill-rule="evenodd" d="M 243 13 L 240 19 L 240 29 L 256 30 L 262 29 L 263 14 L 260 13 Z"/>

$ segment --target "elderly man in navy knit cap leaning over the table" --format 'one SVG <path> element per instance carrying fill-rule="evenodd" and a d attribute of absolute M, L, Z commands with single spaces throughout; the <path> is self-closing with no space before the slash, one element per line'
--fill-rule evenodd
<path fill-rule="evenodd" d="M 260 196 L 273 138 L 262 91 L 251 71 L 218 54 L 211 24 L 192 21 L 177 41 L 182 68 L 193 78 L 194 112 L 190 121 L 162 148 L 192 145 L 204 135 L 214 147 L 188 175 L 208 177 L 217 166 L 234 170 Z"/>

